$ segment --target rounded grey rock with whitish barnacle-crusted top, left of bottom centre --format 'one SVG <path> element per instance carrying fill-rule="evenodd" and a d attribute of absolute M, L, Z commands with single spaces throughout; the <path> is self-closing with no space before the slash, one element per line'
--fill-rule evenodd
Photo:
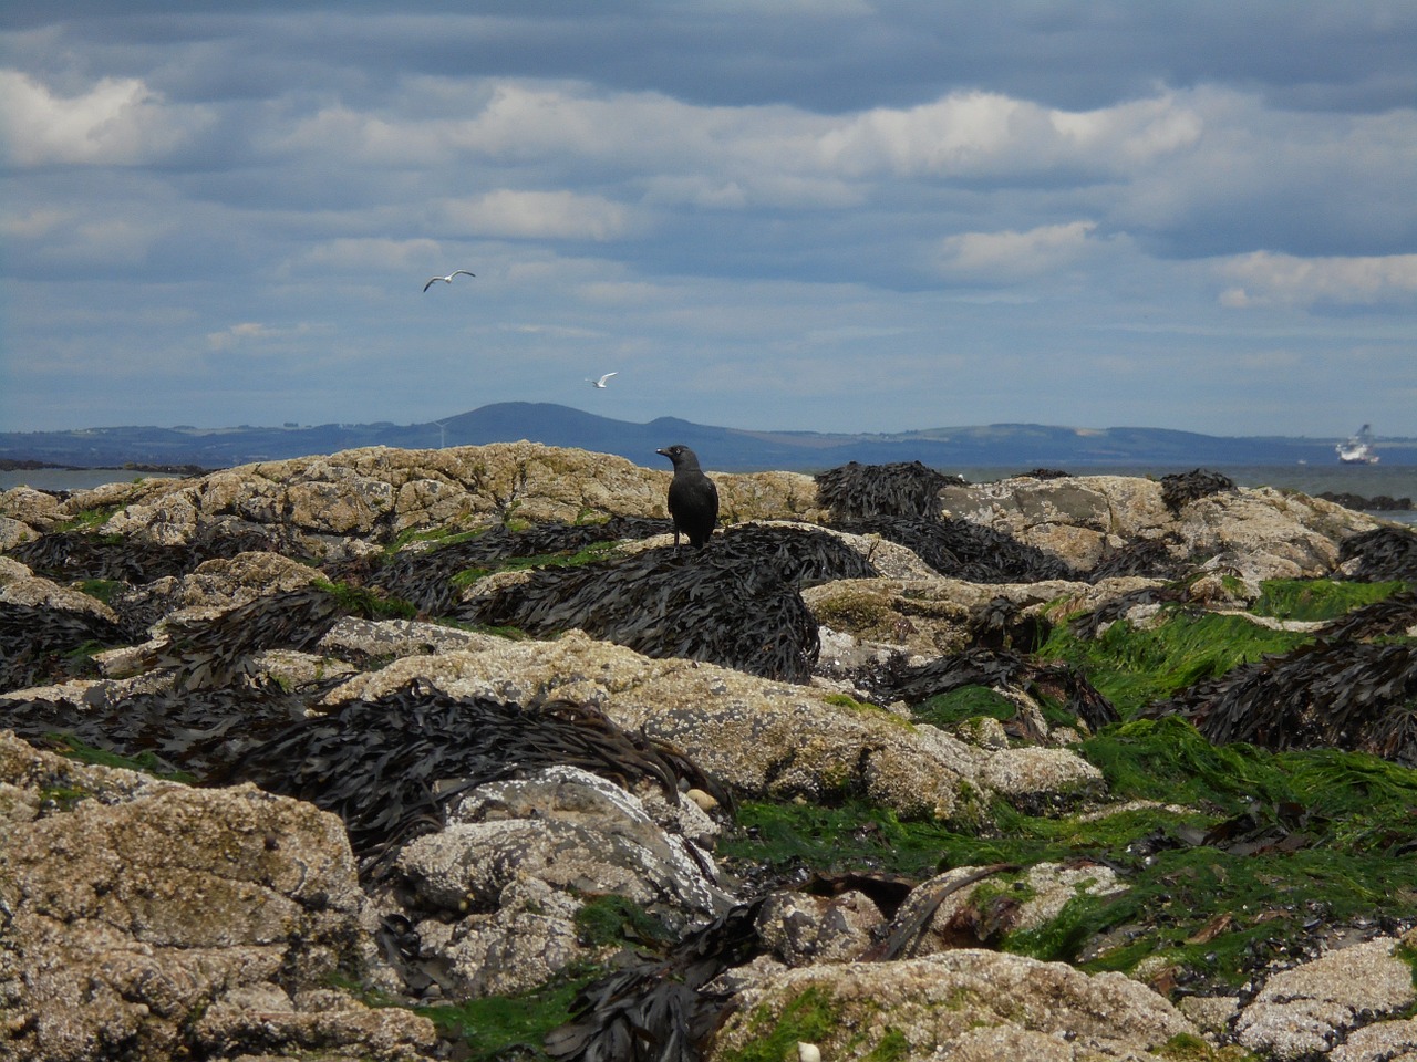
<path fill-rule="evenodd" d="M 575 767 L 479 786 L 445 830 L 404 847 L 397 869 L 432 915 L 417 926 L 421 957 L 462 997 L 527 991 L 594 957 L 574 923 L 585 898 L 623 896 L 666 937 L 733 905 L 707 852 Z"/>

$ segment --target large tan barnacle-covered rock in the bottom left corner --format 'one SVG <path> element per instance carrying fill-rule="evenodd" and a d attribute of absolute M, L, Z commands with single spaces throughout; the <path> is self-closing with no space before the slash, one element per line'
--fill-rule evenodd
<path fill-rule="evenodd" d="M 221 1056 L 194 1015 L 252 991 L 298 1010 L 373 961 L 344 830 L 310 804 L 85 767 L 0 732 L 0 826 L 6 1058 Z M 432 1042 L 408 1014 L 319 1024 L 302 1046 L 418 1058 Z"/>

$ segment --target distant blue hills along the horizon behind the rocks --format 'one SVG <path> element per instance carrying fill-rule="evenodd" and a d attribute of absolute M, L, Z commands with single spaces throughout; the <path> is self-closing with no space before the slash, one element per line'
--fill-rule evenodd
<path fill-rule="evenodd" d="M 445 421 L 395 425 L 326 423 L 281 428 L 84 428 L 68 432 L 0 432 L 0 466 L 71 467 L 197 466 L 220 469 L 258 460 L 334 453 L 354 446 L 432 449 L 529 439 L 616 453 L 636 464 L 665 464 L 655 450 L 686 443 L 720 472 L 818 472 L 847 462 L 918 460 L 944 472 L 965 467 L 1073 470 L 1100 464 L 1224 466 L 1332 464 L 1339 439 L 1229 438 L 1161 428 L 1056 428 L 995 423 L 890 435 L 751 432 L 674 418 L 649 423 L 612 421 L 547 402 L 499 402 Z M 1384 464 L 1417 464 L 1417 439 L 1379 439 Z"/>

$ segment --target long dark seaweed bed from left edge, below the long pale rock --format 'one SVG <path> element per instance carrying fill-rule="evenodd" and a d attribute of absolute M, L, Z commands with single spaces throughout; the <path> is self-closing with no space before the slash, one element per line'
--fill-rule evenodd
<path fill-rule="evenodd" d="M 649 780 L 670 801 L 682 784 L 694 786 L 733 806 L 683 753 L 591 705 L 459 698 L 415 680 L 327 708 L 319 698 L 329 687 L 244 683 L 113 695 L 96 685 L 81 705 L 0 698 L 0 718 L 38 746 L 96 749 L 197 784 L 252 782 L 309 800 L 340 816 L 364 874 L 412 837 L 441 830 L 469 789 L 548 766 L 577 766 L 625 787 Z"/>

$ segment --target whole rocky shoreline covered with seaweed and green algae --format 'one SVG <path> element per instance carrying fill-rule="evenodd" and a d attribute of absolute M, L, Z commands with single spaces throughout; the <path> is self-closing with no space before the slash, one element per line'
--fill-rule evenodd
<path fill-rule="evenodd" d="M 1417 535 L 714 480 L 701 554 L 533 443 L 0 494 L 0 1059 L 1417 1054 Z M 1257 649 L 1093 663 L 1176 624 Z"/>

